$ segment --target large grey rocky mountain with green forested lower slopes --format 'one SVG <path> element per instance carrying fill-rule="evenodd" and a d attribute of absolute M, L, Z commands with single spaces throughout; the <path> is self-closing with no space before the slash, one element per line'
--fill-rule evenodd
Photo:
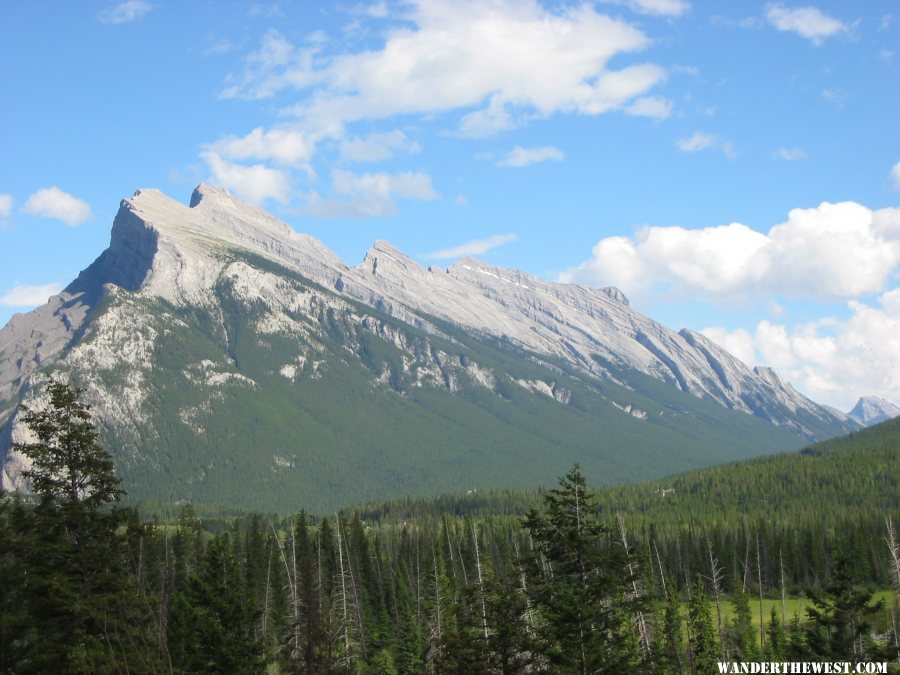
<path fill-rule="evenodd" d="M 18 404 L 86 388 L 139 498 L 332 508 L 524 487 L 580 462 L 594 483 L 787 450 L 858 424 L 621 291 L 386 242 L 349 266 L 207 185 L 123 200 L 109 248 L 0 331 L 3 485 Z"/>

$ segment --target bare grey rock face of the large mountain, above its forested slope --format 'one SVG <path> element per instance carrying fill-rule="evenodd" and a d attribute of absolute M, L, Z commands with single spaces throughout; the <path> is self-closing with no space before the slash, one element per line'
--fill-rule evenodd
<path fill-rule="evenodd" d="M 469 338 L 507 356 L 477 345 L 455 353 Z M 263 353 L 270 361 L 257 368 Z M 190 206 L 157 190 L 123 200 L 109 248 L 63 293 L 0 330 L 4 487 L 20 482 L 21 458 L 8 452 L 21 433 L 16 406 L 50 371 L 88 387 L 103 428 L 130 448 L 131 461 L 162 470 L 165 458 L 146 449 L 163 442 L 170 418 L 202 443 L 216 401 L 234 392 L 264 398 L 260 382 L 270 376 L 314 381 L 357 363 L 373 386 L 408 398 L 472 385 L 510 400 L 514 386 L 557 407 L 581 401 L 594 417 L 584 397 L 624 411 L 629 424 L 669 424 L 674 408 L 647 412 L 657 394 L 629 398 L 656 382 L 664 398 L 677 392 L 802 439 L 856 426 L 773 371 L 751 371 L 702 335 L 635 312 L 618 289 L 556 284 L 473 259 L 423 268 L 382 241 L 351 267 L 316 239 L 201 185 Z M 163 391 L 173 378 L 175 398 L 185 387 L 199 393 L 170 411 Z"/>

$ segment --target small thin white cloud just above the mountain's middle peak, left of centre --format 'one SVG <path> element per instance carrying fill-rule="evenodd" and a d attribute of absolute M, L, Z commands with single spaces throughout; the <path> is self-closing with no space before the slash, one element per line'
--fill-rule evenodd
<path fill-rule="evenodd" d="M 320 218 L 373 218 L 397 212 L 396 199 L 431 201 L 441 196 L 431 185 L 431 176 L 420 172 L 355 174 L 335 169 L 331 190 L 340 199 L 323 199 L 316 193 L 307 198 L 304 213 Z"/>

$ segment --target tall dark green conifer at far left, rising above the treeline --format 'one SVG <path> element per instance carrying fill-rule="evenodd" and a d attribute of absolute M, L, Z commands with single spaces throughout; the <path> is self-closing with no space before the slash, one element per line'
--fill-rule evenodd
<path fill-rule="evenodd" d="M 22 406 L 32 442 L 13 447 L 39 499 L 17 523 L 31 630 L 16 672 L 154 670 L 149 602 L 134 586 L 120 527 L 128 511 L 111 456 L 97 443 L 83 390 L 51 381 L 49 404 Z"/>

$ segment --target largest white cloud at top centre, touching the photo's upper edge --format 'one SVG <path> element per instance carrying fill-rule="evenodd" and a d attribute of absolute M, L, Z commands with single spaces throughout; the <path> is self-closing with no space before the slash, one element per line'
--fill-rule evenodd
<path fill-rule="evenodd" d="M 622 109 L 666 76 L 652 64 L 609 70 L 650 40 L 589 4 L 553 12 L 536 0 L 418 0 L 405 18 L 381 49 L 330 58 L 272 31 L 223 95 L 312 89 L 291 110 L 306 128 L 458 111 L 464 133 L 484 134 L 534 116 Z"/>

